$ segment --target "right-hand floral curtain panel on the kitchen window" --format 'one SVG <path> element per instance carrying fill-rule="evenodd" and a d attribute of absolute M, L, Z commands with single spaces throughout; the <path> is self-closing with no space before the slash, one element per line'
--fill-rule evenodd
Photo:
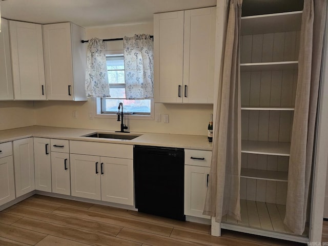
<path fill-rule="evenodd" d="M 153 98 L 153 40 L 146 34 L 124 37 L 126 99 Z"/>

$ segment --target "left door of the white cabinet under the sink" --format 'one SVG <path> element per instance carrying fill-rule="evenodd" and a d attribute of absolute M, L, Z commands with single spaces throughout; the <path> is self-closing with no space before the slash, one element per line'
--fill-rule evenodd
<path fill-rule="evenodd" d="M 72 196 L 101 199 L 100 157 L 71 154 Z"/>

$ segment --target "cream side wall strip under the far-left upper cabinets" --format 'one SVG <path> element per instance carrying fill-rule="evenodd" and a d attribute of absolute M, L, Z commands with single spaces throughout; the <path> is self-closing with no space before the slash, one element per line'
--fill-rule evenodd
<path fill-rule="evenodd" d="M 35 125 L 33 101 L 0 101 L 0 130 Z"/>

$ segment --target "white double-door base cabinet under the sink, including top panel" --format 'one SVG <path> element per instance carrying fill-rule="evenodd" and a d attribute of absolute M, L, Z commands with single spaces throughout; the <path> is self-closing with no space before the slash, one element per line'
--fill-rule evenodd
<path fill-rule="evenodd" d="M 132 145 L 70 141 L 70 151 L 72 196 L 133 206 Z"/>

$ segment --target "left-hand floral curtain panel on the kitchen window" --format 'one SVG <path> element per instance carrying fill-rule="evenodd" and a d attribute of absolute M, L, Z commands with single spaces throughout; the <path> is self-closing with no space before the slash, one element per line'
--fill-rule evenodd
<path fill-rule="evenodd" d="M 86 69 L 87 97 L 110 97 L 103 40 L 91 38 L 88 44 Z"/>

